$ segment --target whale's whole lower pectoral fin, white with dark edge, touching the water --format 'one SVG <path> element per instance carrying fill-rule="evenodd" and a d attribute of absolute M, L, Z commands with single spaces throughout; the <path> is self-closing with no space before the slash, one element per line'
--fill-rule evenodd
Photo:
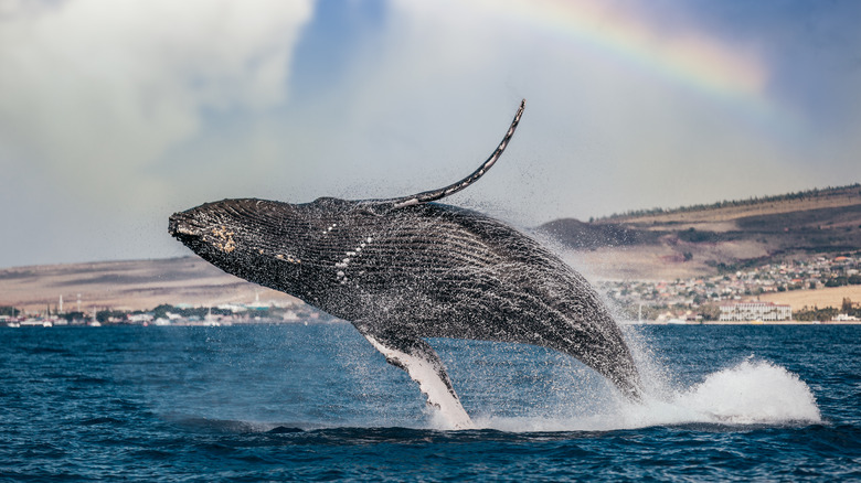
<path fill-rule="evenodd" d="M 403 334 L 369 332 L 362 328 L 359 331 L 389 364 L 406 371 L 418 383 L 418 388 L 427 396 L 427 404 L 439 409 L 453 429 L 475 428 L 451 387 L 443 361 L 427 342 Z"/>

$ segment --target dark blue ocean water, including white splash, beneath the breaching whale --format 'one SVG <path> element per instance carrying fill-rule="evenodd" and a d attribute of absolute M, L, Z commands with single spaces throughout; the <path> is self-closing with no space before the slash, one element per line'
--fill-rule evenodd
<path fill-rule="evenodd" d="M 344 323 L 0 329 L 3 481 L 861 481 L 861 326 L 637 326 L 648 396 L 434 340 L 448 431 Z"/>

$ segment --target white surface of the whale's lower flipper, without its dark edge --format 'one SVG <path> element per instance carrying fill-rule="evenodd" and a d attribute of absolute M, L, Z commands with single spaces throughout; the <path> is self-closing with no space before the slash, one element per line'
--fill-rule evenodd
<path fill-rule="evenodd" d="M 427 404 L 439 410 L 439 415 L 450 429 L 476 428 L 472 419 L 460 405 L 460 400 L 439 377 L 438 368 L 433 362 L 386 347 L 371 335 L 365 335 L 365 339 L 385 356 L 386 361 L 406 369 L 410 378 L 418 383 L 418 388 L 427 396 Z"/>

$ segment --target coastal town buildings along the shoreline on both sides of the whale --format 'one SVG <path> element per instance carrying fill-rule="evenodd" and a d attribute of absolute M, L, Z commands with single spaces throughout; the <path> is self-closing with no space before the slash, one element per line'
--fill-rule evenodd
<path fill-rule="evenodd" d="M 711 277 L 670 281 L 603 280 L 598 291 L 620 312 L 624 323 L 737 324 L 737 323 L 861 323 L 861 304 L 843 299 L 840 307 L 805 307 L 793 312 L 779 294 L 861 286 L 861 253 L 814 255 L 783 262 L 722 270 Z M 761 297 L 776 297 L 761 301 Z M 59 325 L 235 325 L 255 323 L 331 322 L 336 319 L 299 300 L 160 304 L 151 310 L 121 311 L 64 307 L 62 297 L 44 310 L 24 312 L 0 307 L 0 326 Z"/>

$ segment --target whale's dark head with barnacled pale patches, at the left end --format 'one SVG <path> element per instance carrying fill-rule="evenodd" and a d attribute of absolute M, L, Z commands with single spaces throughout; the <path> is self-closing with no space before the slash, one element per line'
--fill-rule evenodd
<path fill-rule="evenodd" d="M 174 213 L 168 233 L 222 270 L 269 285 L 268 278 L 301 264 L 301 224 L 297 205 L 223 200 Z"/>

